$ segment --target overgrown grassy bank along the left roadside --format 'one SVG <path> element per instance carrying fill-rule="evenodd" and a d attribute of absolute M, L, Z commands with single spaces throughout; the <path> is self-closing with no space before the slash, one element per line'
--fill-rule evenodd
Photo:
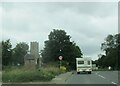
<path fill-rule="evenodd" d="M 55 76 L 66 72 L 58 67 L 46 67 L 39 69 L 26 69 L 24 67 L 7 69 L 2 72 L 2 81 L 7 82 L 36 82 L 50 81 Z"/>

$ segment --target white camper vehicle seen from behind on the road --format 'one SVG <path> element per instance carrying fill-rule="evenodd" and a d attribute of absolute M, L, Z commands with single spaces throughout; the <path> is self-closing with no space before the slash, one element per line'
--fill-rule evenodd
<path fill-rule="evenodd" d="M 92 72 L 92 60 L 91 58 L 76 58 L 77 74 L 86 72 L 91 74 Z"/>

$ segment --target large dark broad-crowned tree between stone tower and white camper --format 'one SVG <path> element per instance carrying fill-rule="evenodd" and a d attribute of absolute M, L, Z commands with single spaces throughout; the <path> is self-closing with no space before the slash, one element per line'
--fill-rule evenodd
<path fill-rule="evenodd" d="M 63 56 L 63 60 L 69 64 L 71 68 L 75 67 L 75 58 L 81 58 L 80 48 L 70 41 L 70 35 L 64 30 L 53 30 L 45 41 L 45 47 L 42 50 L 44 62 L 59 61 L 58 57 Z"/>

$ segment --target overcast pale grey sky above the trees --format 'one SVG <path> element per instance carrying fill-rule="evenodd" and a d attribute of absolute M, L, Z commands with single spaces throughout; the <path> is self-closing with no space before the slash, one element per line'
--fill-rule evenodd
<path fill-rule="evenodd" d="M 3 2 L 0 13 L 0 36 L 13 47 L 37 41 L 41 50 L 49 33 L 62 29 L 84 56 L 96 60 L 105 37 L 118 33 L 117 2 Z"/>

